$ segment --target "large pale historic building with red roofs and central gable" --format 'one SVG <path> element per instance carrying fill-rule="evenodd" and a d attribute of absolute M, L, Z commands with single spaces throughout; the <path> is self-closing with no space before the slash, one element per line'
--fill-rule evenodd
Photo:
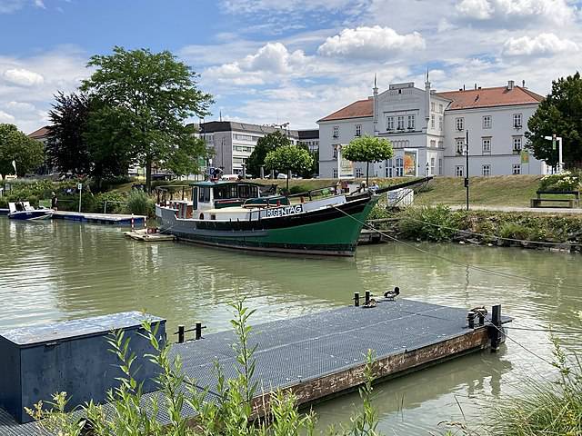
<path fill-rule="evenodd" d="M 547 173 L 547 165 L 524 148 L 528 118 L 541 95 L 509 81 L 506 86 L 437 93 L 426 80 L 390 84 L 320 119 L 321 177 L 364 177 L 366 163 L 349 163 L 341 148 L 368 134 L 389 140 L 392 159 L 370 164 L 370 175 L 400 177 Z"/>

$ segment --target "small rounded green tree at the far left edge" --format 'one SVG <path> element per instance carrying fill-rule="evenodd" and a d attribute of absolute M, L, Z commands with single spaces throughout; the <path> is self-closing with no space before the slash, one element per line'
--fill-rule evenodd
<path fill-rule="evenodd" d="M 14 124 L 0 124 L 0 174 L 25 175 L 35 171 L 45 159 L 45 145 L 20 132 Z"/>

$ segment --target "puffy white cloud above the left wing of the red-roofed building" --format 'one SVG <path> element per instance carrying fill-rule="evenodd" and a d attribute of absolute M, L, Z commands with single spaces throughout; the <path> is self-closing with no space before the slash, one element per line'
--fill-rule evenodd
<path fill-rule="evenodd" d="M 326 56 L 386 59 L 387 56 L 403 51 L 425 48 L 425 40 L 417 32 L 399 35 L 390 27 L 356 27 L 344 29 L 339 35 L 326 39 L 317 53 Z"/>

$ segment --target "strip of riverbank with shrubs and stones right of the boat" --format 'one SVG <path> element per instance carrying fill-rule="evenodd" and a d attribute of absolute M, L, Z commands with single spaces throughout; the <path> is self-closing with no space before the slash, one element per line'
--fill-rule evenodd
<path fill-rule="evenodd" d="M 499 211 L 453 210 L 446 205 L 389 212 L 376 207 L 378 230 L 412 241 L 473 243 L 582 252 L 582 216 Z"/>

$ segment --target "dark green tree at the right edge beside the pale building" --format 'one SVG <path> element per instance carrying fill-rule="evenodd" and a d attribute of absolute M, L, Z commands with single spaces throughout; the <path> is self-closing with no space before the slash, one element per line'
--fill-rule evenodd
<path fill-rule="evenodd" d="M 552 82 L 552 92 L 527 121 L 527 147 L 537 159 L 554 166 L 558 152 L 545 136 L 562 137 L 564 163 L 582 166 L 582 78 L 579 73 Z"/>

